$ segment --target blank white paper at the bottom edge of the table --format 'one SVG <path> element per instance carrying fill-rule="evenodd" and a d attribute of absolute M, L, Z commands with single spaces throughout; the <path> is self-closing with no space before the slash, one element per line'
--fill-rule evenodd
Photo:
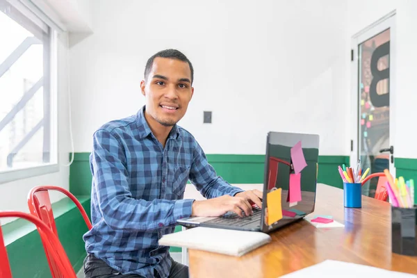
<path fill-rule="evenodd" d="M 375 268 L 368 265 L 359 265 L 357 263 L 346 263 L 344 261 L 326 260 L 322 263 L 297 270 L 281 278 L 297 278 L 297 277 L 395 277 L 395 278 L 416 278 L 417 275 L 411 275 L 403 272 L 394 272 Z"/>

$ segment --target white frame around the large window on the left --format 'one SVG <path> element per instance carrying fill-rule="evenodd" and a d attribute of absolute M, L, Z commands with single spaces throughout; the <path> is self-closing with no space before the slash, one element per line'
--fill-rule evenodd
<path fill-rule="evenodd" d="M 49 29 L 50 32 L 48 46 L 50 49 L 49 57 L 44 57 L 44 59 L 47 58 L 49 60 L 49 76 L 47 76 L 47 84 L 49 85 L 49 148 L 51 150 L 51 161 L 53 162 L 42 163 L 31 167 L 17 167 L 10 170 L 0 170 L 0 185 L 2 183 L 58 172 L 60 158 L 58 144 L 58 33 L 63 30 L 56 28 L 56 25 L 54 24 L 45 23 L 50 22 L 50 19 L 46 16 L 40 16 L 39 13 L 36 13 L 36 11 L 30 7 L 24 6 L 17 1 L 13 1 L 13 3 L 10 3 L 10 1 L 7 2 L 6 5 L 10 5 L 10 8 L 14 8 L 20 13 L 20 15 L 17 15 L 16 13 L 12 17 L 17 24 L 22 24 L 19 22 L 20 20 L 22 20 L 22 22 L 29 20 L 31 24 L 37 25 L 44 31 L 45 28 L 47 30 Z M 21 18 L 19 20 L 16 17 Z"/>

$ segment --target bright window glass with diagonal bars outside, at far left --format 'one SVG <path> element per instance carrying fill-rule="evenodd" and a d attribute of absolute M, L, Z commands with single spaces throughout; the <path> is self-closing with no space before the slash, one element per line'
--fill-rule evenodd
<path fill-rule="evenodd" d="M 57 168 L 56 33 L 25 8 L 0 0 L 0 183 Z"/>

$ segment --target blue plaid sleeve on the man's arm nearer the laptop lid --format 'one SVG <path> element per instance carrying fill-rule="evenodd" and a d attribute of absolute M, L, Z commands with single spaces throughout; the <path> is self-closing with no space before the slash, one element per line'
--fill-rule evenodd
<path fill-rule="evenodd" d="M 195 149 L 193 152 L 193 164 L 191 165 L 190 181 L 195 185 L 197 190 L 207 199 L 220 197 L 222 195 L 234 196 L 244 190 L 231 186 L 222 177 L 218 176 L 206 158 L 202 147 L 195 140 Z"/>

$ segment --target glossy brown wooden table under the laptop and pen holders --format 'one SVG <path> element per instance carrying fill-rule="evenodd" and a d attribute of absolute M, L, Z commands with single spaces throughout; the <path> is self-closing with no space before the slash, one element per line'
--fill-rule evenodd
<path fill-rule="evenodd" d="M 272 243 L 241 257 L 189 250 L 190 277 L 275 278 L 326 259 L 417 274 L 417 257 L 391 252 L 389 203 L 363 196 L 362 208 L 344 208 L 343 190 L 318 184 L 313 213 L 332 215 L 345 227 L 317 229 L 301 220 L 271 233 Z"/>

